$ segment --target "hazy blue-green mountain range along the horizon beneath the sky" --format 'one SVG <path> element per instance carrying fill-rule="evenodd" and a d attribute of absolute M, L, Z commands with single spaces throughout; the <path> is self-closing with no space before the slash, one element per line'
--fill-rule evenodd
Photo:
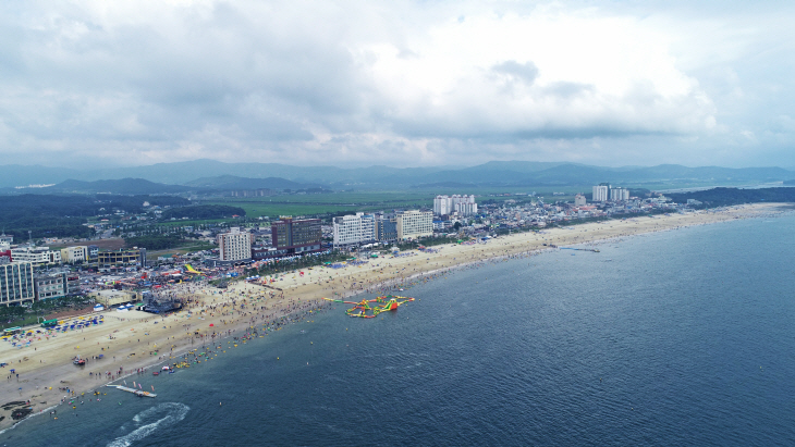
<path fill-rule="evenodd" d="M 66 177 L 64 178 L 64 176 Z M 158 163 L 124 169 L 69 171 L 41 166 L 0 166 L 0 187 L 59 183 L 66 178 L 83 181 L 129 179 L 135 177 L 156 184 L 182 185 L 189 189 L 331 189 L 409 188 L 416 185 L 474 186 L 588 186 L 610 182 L 622 186 L 640 184 L 704 183 L 705 186 L 741 183 L 782 182 L 795 178 L 795 172 L 782 167 L 731 169 L 720 166 L 688 167 L 677 164 L 657 166 L 604 167 L 566 162 L 491 161 L 469 167 L 369 167 L 292 166 L 278 163 L 223 163 L 194 160 Z M 91 183 L 91 182 L 88 182 Z M 131 185 L 133 187 L 135 185 Z M 143 184 L 138 185 L 142 188 Z M 72 185 L 76 189 L 97 191 L 113 189 L 111 184 Z M 163 193 L 167 189 L 161 190 Z M 35 193 L 35 189 L 23 191 Z M 144 189 L 147 193 L 151 189 Z M 173 189 L 176 190 L 176 189 Z M 8 194 L 8 191 L 5 191 Z M 143 190 L 142 190 L 143 193 Z M 17 190 L 19 194 L 19 190 Z M 132 193 L 123 193 L 132 194 Z M 149 193 L 157 194 L 157 193 Z"/>

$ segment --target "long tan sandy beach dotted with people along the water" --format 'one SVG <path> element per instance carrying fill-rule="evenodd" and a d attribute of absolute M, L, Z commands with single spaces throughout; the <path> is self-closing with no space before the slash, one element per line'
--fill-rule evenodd
<path fill-rule="evenodd" d="M 784 207 L 788 206 L 765 203 L 720 211 L 638 216 L 513 234 L 488 243 L 431 247 L 435 252 L 414 250 L 413 254 L 372 259 L 359 266 L 337 270 L 314 268 L 305 270 L 303 276 L 297 272 L 280 274 L 272 284 L 276 288 L 244 282 L 232 283 L 225 290 L 181 284 L 173 291 L 189 297 L 191 302 L 182 311 L 167 316 L 137 311 L 106 311 L 100 313 L 105 316 L 101 325 L 49 337 L 36 334 L 29 346 L 23 348 L 12 347 L 7 342 L 0 344 L 0 361 L 9 363 L 1 370 L 5 383 L 0 389 L 0 403 L 29 400 L 29 407 L 24 406 L 32 408 L 34 413 L 41 412 L 60 403 L 68 396 L 65 388 L 70 390 L 69 396 L 72 392 L 77 396 L 88 394 L 121 376 L 135 374 L 136 370 L 169 361 L 203 344 L 209 345 L 211 339 L 241 335 L 248 327 L 278 321 L 289 314 L 301 318 L 305 312 L 328 306 L 321 299 L 323 297 L 378 293 L 386 285 L 399 287 L 418 275 L 462 264 L 499 257 L 533 256 L 550 249 L 549 245 L 598 244 L 685 226 L 767 216 L 790 209 Z M 85 359 L 86 365 L 73 364 L 75 356 Z M 99 359 L 99 356 L 102 358 Z M 11 369 L 15 370 L 13 374 Z M 0 430 L 16 422 L 12 420 L 11 412 L 22 406 L 0 409 L 3 418 Z"/>

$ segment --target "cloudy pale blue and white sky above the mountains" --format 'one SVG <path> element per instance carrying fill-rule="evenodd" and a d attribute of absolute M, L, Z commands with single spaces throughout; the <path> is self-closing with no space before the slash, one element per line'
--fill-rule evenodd
<path fill-rule="evenodd" d="M 0 164 L 795 167 L 795 2 L 0 2 Z"/>

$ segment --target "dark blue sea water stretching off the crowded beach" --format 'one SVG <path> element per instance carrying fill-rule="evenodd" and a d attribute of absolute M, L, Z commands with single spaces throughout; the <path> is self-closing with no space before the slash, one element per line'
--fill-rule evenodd
<path fill-rule="evenodd" d="M 494 244 L 494 243 L 491 243 Z M 795 445 L 795 215 L 462 269 L 135 376 L 9 446 Z M 96 399 L 96 398 L 95 398 Z"/>

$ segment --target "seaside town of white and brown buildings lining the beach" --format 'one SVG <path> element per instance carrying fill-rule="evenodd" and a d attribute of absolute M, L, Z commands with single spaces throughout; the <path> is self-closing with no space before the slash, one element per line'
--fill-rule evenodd
<path fill-rule="evenodd" d="M 285 270 L 291 264 L 328 264 L 352 256 L 394 256 L 400 250 L 442 244 L 487 244 L 490 238 L 511 232 L 538 232 L 550 226 L 638 214 L 685 213 L 701 204 L 694 199 L 675 203 L 662 194 L 637 197 L 627 188 L 610 184 L 594 186 L 588 198 L 576 194 L 571 201 L 555 200 L 558 194 L 549 200 L 535 191 L 513 193 L 505 200 L 494 200 L 499 195 L 490 196 L 480 197 L 480 203 L 474 195 L 439 195 L 420 209 L 272 220 L 233 215 L 230 222 L 199 227 L 172 225 L 168 232 L 189 234 L 204 249 L 154 259 L 149 253 L 157 247 L 100 248 L 120 239 L 118 234 L 135 237 L 146 233 L 140 224 L 134 231 L 129 225 L 149 224 L 162 214 L 161 207 L 148 202 L 143 203 L 145 212 L 137 215 L 117 210 L 115 214 L 124 220 L 115 225 L 109 219 L 88 225 L 95 234 L 83 239 L 34 240 L 28 235 L 27 240 L 21 240 L 20 235 L 3 233 L 0 305 L 29 307 L 37 301 L 84 297 L 82 302 L 97 308 L 126 307 L 156 296 L 151 291 L 159 287 L 191 281 L 196 275 L 223 286 L 229 278 L 258 277 L 277 263 Z M 164 209 L 168 211 L 169 207 Z M 69 243 L 66 247 L 50 247 L 64 241 Z M 149 309 L 161 308 L 150 300 Z M 28 315 L 19 320 L 29 323 L 30 319 Z M 17 326 L 13 319 L 3 323 L 12 332 Z"/>

